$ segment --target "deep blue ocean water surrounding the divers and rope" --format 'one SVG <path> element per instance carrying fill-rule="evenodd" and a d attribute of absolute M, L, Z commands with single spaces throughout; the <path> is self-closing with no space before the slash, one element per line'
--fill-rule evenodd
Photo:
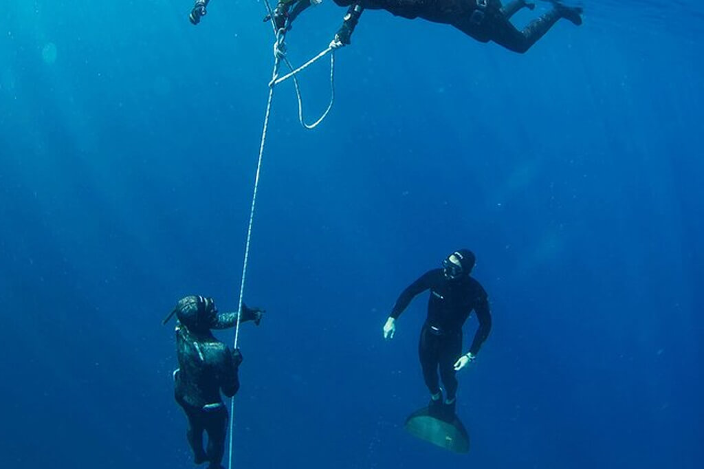
<path fill-rule="evenodd" d="M 214 0 L 198 27 L 190 7 L 4 7 L 3 468 L 191 467 L 161 319 L 185 294 L 237 306 L 272 37 L 256 1 Z M 312 132 L 277 87 L 233 467 L 701 467 L 704 9 L 584 7 L 524 55 L 367 11 Z M 343 14 L 298 18 L 291 61 Z M 328 73 L 301 78 L 309 120 Z M 427 401 L 425 296 L 381 333 L 460 247 L 494 317 L 460 377 L 467 456 L 402 428 Z"/>

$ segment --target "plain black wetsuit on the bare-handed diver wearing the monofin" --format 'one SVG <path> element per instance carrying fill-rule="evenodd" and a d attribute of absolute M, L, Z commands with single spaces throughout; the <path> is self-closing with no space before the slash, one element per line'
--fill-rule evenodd
<path fill-rule="evenodd" d="M 450 280 L 442 269 L 434 269 L 403 290 L 391 310 L 391 318 L 398 318 L 410 301 L 427 289 L 430 298 L 428 316 L 420 332 L 420 365 L 430 393 L 440 392 L 439 368 L 447 398 L 454 399 L 457 378 L 453 365 L 462 356 L 462 326 L 472 310 L 476 311 L 479 328 L 470 347 L 470 352 L 476 355 L 491 330 L 489 300 L 482 285 L 469 275 Z"/>

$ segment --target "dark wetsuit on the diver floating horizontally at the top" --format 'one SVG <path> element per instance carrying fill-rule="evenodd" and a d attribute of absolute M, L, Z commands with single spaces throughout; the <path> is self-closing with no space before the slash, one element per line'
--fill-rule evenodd
<path fill-rule="evenodd" d="M 522 31 L 509 21 L 524 6 L 525 0 L 515 0 L 502 6 L 501 0 L 334 0 L 339 6 L 350 6 L 348 18 L 355 6 L 362 9 L 386 10 L 403 18 L 423 18 L 434 23 L 453 25 L 480 42 L 494 41 L 511 51 L 524 53 L 543 37 L 569 8 L 555 6 L 536 18 Z M 356 13 L 355 22 L 362 10 Z M 572 12 L 574 13 L 574 12 Z M 576 13 L 575 13 L 576 14 Z M 577 15 L 578 16 L 578 15 Z M 574 21 L 581 18 L 572 15 Z"/>

